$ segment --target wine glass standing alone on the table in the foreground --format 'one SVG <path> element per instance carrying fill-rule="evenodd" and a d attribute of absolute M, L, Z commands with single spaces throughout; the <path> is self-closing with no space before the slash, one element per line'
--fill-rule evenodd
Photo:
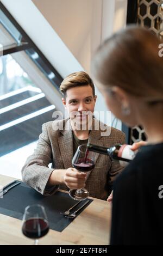
<path fill-rule="evenodd" d="M 34 245 L 38 245 L 38 239 L 45 236 L 48 231 L 49 224 L 45 208 L 40 204 L 28 205 L 23 215 L 23 234 L 34 239 Z"/>

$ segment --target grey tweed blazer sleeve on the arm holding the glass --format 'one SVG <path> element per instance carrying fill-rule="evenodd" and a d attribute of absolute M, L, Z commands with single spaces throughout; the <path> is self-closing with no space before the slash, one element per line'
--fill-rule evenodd
<path fill-rule="evenodd" d="M 58 186 L 47 188 L 49 176 L 53 170 L 55 170 L 48 168 L 49 163 L 52 163 L 52 148 L 46 124 L 43 124 L 42 133 L 39 136 L 36 149 L 34 153 L 28 157 L 22 168 L 22 179 L 30 187 L 35 188 L 35 190 L 45 196 L 53 194 L 58 188 Z"/>

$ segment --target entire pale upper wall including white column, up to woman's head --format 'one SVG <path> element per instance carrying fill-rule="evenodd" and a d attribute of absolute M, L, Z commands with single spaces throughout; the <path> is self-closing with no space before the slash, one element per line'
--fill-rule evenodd
<path fill-rule="evenodd" d="M 33 0 L 33 3 L 89 74 L 96 48 L 126 25 L 127 0 Z"/>

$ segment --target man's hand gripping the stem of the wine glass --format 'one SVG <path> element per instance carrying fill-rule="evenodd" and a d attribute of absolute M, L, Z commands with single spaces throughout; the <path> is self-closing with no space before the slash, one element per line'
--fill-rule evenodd
<path fill-rule="evenodd" d="M 70 189 L 78 189 L 85 187 L 86 173 L 79 173 L 75 168 L 65 170 L 63 181 Z"/>

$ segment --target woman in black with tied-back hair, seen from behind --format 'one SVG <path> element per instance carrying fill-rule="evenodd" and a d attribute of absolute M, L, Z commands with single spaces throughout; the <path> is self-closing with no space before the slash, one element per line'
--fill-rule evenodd
<path fill-rule="evenodd" d="M 148 137 L 117 177 L 112 202 L 112 245 L 162 244 L 163 58 L 161 41 L 145 28 L 129 27 L 106 40 L 92 70 L 105 101 L 129 126 Z"/>

